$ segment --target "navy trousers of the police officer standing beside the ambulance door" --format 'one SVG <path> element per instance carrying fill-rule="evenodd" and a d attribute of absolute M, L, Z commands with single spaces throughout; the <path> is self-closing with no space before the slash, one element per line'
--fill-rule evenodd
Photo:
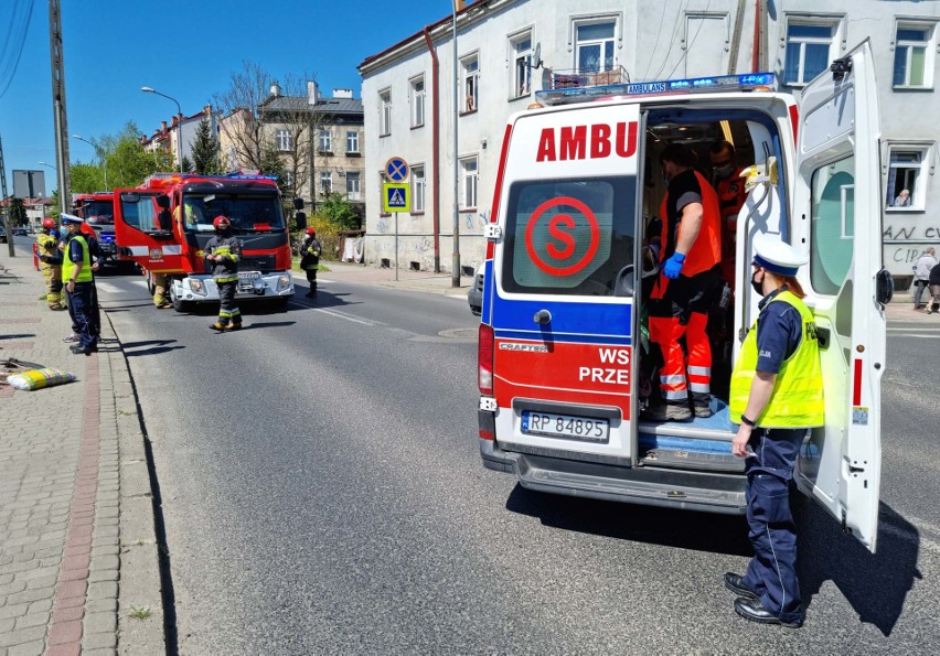
<path fill-rule="evenodd" d="M 807 429 L 755 429 L 747 459 L 748 537 L 754 558 L 744 582 L 765 610 L 782 622 L 802 620 L 797 580 L 797 525 L 790 513 L 790 481 Z"/>

